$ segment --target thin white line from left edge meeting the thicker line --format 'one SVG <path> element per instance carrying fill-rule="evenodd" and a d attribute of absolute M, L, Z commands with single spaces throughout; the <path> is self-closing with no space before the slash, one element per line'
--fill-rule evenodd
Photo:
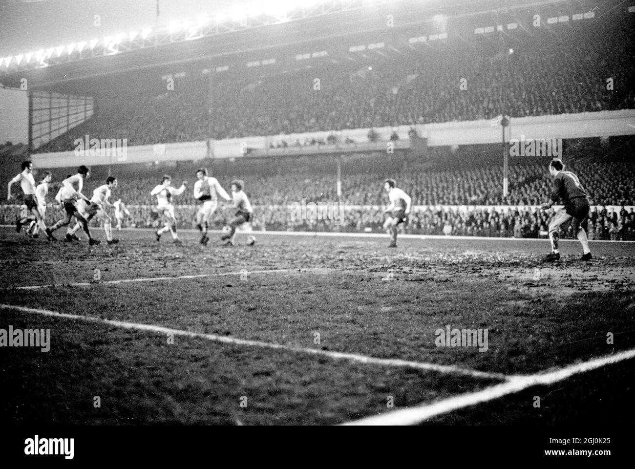
<path fill-rule="evenodd" d="M 330 351 L 330 350 L 321 350 L 316 348 L 295 347 L 295 346 L 276 344 L 271 342 L 250 341 L 245 339 L 236 339 L 234 337 L 228 337 L 228 336 L 217 336 L 215 334 L 203 334 L 202 332 L 190 332 L 187 330 L 170 329 L 169 327 L 163 327 L 163 326 L 157 326 L 157 325 L 115 321 L 110 319 L 96 318 L 93 316 L 72 315 L 69 313 L 58 313 L 57 311 L 50 311 L 48 309 L 27 308 L 25 306 L 16 306 L 11 304 L 0 304 L 0 308 L 1 309 L 17 309 L 18 311 L 24 311 L 26 313 L 36 313 L 36 314 L 46 315 L 46 316 L 57 316 L 61 318 L 78 319 L 78 320 L 84 320 L 84 321 L 90 321 L 90 322 L 104 323 L 104 324 L 108 324 L 108 325 L 112 325 L 116 327 L 123 327 L 124 329 L 145 330 L 149 332 L 159 332 L 161 334 L 174 334 L 175 336 L 199 337 L 199 338 L 207 339 L 209 341 L 213 341 L 217 343 L 244 345 L 244 346 L 250 346 L 250 347 L 271 348 L 274 350 L 286 350 L 286 351 L 291 351 L 295 353 L 309 353 L 312 355 L 322 355 L 324 357 L 333 358 L 335 360 L 350 360 L 351 362 L 359 362 L 363 364 L 382 365 L 387 367 L 416 368 L 421 370 L 437 371 L 437 372 L 448 373 L 448 374 L 449 373 L 463 374 L 467 376 L 480 377 L 480 378 L 507 379 L 502 374 L 487 373 L 487 372 L 478 371 L 478 370 L 464 369 L 464 368 L 455 367 L 451 365 L 436 365 L 436 364 L 423 363 L 423 362 L 411 362 L 408 360 L 398 360 L 394 358 L 376 358 L 376 357 L 368 357 L 366 355 L 358 355 L 356 353 L 344 353 L 344 352 L 337 352 L 337 351 Z"/>

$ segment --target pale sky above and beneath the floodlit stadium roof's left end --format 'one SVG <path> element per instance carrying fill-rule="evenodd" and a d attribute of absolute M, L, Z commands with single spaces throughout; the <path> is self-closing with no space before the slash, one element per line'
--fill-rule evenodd
<path fill-rule="evenodd" d="M 236 8 L 281 3 L 263 0 L 159 0 L 159 26 Z M 95 15 L 99 15 L 98 25 Z M 102 39 L 156 25 L 156 0 L 0 0 L 0 57 Z M 0 77 L 0 82 L 1 82 Z M 25 92 L 0 89 L 0 142 L 27 142 Z"/>

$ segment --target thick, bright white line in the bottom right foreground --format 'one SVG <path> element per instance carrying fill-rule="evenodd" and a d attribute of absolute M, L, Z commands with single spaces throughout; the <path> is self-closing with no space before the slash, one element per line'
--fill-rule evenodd
<path fill-rule="evenodd" d="M 558 381 L 563 381 L 563 379 L 571 377 L 574 374 L 594 370 L 605 365 L 615 364 L 622 360 L 629 360 L 629 358 L 635 358 L 635 348 L 615 353 L 614 355 L 593 358 L 587 362 L 568 365 L 567 367 L 551 372 L 526 376 L 509 376 L 506 383 L 496 384 L 481 391 L 465 393 L 432 404 L 422 404 L 417 407 L 366 417 L 342 425 L 414 425 L 432 417 L 446 414 L 447 412 L 517 393 L 526 388 L 531 388 L 531 386 L 558 383 Z"/>

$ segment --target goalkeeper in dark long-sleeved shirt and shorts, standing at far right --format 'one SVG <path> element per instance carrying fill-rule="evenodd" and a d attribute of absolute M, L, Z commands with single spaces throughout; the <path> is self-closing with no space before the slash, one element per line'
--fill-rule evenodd
<path fill-rule="evenodd" d="M 549 164 L 549 174 L 554 178 L 554 190 L 551 193 L 551 200 L 545 203 L 542 208 L 548 210 L 554 203 L 561 199 L 564 209 L 558 210 L 549 223 L 549 241 L 551 241 L 551 253 L 547 254 L 545 261 L 552 262 L 560 259 L 558 251 L 558 232 L 560 226 L 571 220 L 571 228 L 575 237 L 582 243 L 582 261 L 592 259 L 589 241 L 584 228 L 580 226 L 584 219 L 589 216 L 589 198 L 587 192 L 580 184 L 578 177 L 570 171 L 563 171 L 561 161 L 551 161 Z"/>

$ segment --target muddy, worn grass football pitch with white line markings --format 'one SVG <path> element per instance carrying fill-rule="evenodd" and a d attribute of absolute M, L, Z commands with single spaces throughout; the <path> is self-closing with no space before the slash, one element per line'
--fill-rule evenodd
<path fill-rule="evenodd" d="M 50 330 L 48 351 L 0 348 L 4 421 L 635 417 L 635 243 L 591 241 L 582 262 L 561 241 L 544 264 L 546 240 L 253 235 L 205 247 L 124 230 L 88 247 L 0 228 L 0 329 Z"/>

